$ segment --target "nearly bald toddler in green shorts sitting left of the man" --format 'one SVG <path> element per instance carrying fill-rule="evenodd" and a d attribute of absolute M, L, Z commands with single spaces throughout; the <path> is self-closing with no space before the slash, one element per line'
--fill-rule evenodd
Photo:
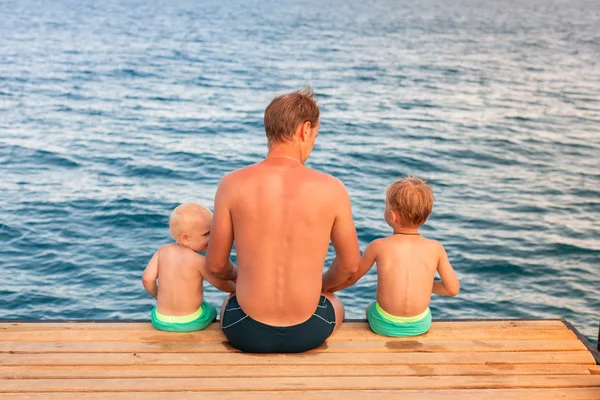
<path fill-rule="evenodd" d="M 211 221 L 212 213 L 199 204 L 181 204 L 173 210 L 169 228 L 175 243 L 158 249 L 142 276 L 144 288 L 157 300 L 152 310 L 156 329 L 191 332 L 215 320 L 215 306 L 203 301 L 204 278 L 222 291 L 235 291 L 235 282 L 208 274 L 205 258 L 198 254 L 208 246 Z"/>

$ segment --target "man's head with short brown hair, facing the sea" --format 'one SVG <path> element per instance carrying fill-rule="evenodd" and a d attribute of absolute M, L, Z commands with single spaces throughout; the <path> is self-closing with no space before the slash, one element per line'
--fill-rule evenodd
<path fill-rule="evenodd" d="M 319 115 L 319 106 L 310 86 L 276 97 L 265 110 L 269 147 L 298 142 L 310 154 L 318 135 Z"/>

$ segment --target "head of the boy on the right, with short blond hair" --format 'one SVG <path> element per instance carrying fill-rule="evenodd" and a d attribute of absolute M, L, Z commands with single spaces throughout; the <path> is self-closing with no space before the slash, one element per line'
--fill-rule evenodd
<path fill-rule="evenodd" d="M 398 213 L 402 223 L 421 226 L 433 209 L 433 189 L 427 181 L 407 176 L 388 187 L 386 201 Z"/>

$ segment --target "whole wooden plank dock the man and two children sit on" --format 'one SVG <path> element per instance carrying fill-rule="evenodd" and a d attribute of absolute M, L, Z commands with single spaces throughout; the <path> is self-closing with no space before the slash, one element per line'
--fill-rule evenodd
<path fill-rule="evenodd" d="M 0 398 L 599 400 L 598 360 L 561 320 L 434 321 L 423 336 L 393 339 L 348 322 L 293 355 L 236 352 L 217 324 L 165 333 L 140 322 L 4 322 Z"/>

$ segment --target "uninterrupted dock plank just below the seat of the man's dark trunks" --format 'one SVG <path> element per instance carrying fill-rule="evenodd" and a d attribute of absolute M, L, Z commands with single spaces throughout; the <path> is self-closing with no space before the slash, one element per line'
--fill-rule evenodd
<path fill-rule="evenodd" d="M 588 351 L 481 353 L 350 353 L 243 354 L 114 353 L 3 354 L 0 365 L 398 365 L 398 364 L 588 364 Z"/>

